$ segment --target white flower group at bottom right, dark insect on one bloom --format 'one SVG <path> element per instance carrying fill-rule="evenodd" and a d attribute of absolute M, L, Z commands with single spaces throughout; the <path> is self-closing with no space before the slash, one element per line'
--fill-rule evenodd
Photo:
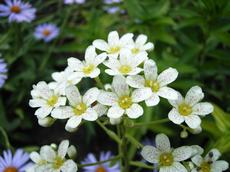
<path fill-rule="evenodd" d="M 222 172 L 228 169 L 228 162 L 217 161 L 220 152 L 212 149 L 203 159 L 203 149 L 198 145 L 172 148 L 165 134 L 158 134 L 155 139 L 156 147 L 144 146 L 141 151 L 143 158 L 150 163 L 157 163 L 160 172 Z M 189 160 L 185 166 L 185 160 Z"/>

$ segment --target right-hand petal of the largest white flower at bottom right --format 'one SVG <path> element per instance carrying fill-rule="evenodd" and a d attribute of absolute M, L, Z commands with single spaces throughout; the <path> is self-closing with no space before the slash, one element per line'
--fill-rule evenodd
<path fill-rule="evenodd" d="M 173 150 L 173 157 L 175 161 L 184 161 L 190 158 L 192 155 L 192 149 L 190 146 L 181 146 Z"/>

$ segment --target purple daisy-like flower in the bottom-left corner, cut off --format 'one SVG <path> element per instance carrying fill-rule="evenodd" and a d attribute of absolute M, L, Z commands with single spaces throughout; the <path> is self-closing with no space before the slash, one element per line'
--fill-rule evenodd
<path fill-rule="evenodd" d="M 26 168 L 32 164 L 29 161 L 29 154 L 22 149 L 16 150 L 13 155 L 10 150 L 3 151 L 0 156 L 0 171 L 1 172 L 25 172 Z"/>

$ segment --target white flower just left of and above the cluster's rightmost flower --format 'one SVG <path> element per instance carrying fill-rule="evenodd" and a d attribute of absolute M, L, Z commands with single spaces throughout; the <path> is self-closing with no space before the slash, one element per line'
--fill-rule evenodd
<path fill-rule="evenodd" d="M 167 86 L 177 78 L 176 69 L 168 68 L 158 75 L 156 63 L 150 59 L 144 63 L 144 75 L 145 77 L 128 76 L 126 82 L 133 88 L 151 88 L 151 97 L 145 101 L 147 106 L 157 105 L 160 102 L 159 97 L 169 100 L 177 99 L 177 91 Z"/>

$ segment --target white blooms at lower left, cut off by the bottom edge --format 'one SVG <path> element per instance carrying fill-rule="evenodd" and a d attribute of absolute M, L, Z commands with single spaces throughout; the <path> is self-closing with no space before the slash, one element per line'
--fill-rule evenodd
<path fill-rule="evenodd" d="M 71 159 L 66 159 L 68 151 L 68 140 L 63 140 L 57 151 L 52 146 L 42 146 L 40 154 L 37 152 L 30 154 L 31 160 L 35 163 L 34 170 L 36 172 L 76 172 L 77 164 Z"/>

